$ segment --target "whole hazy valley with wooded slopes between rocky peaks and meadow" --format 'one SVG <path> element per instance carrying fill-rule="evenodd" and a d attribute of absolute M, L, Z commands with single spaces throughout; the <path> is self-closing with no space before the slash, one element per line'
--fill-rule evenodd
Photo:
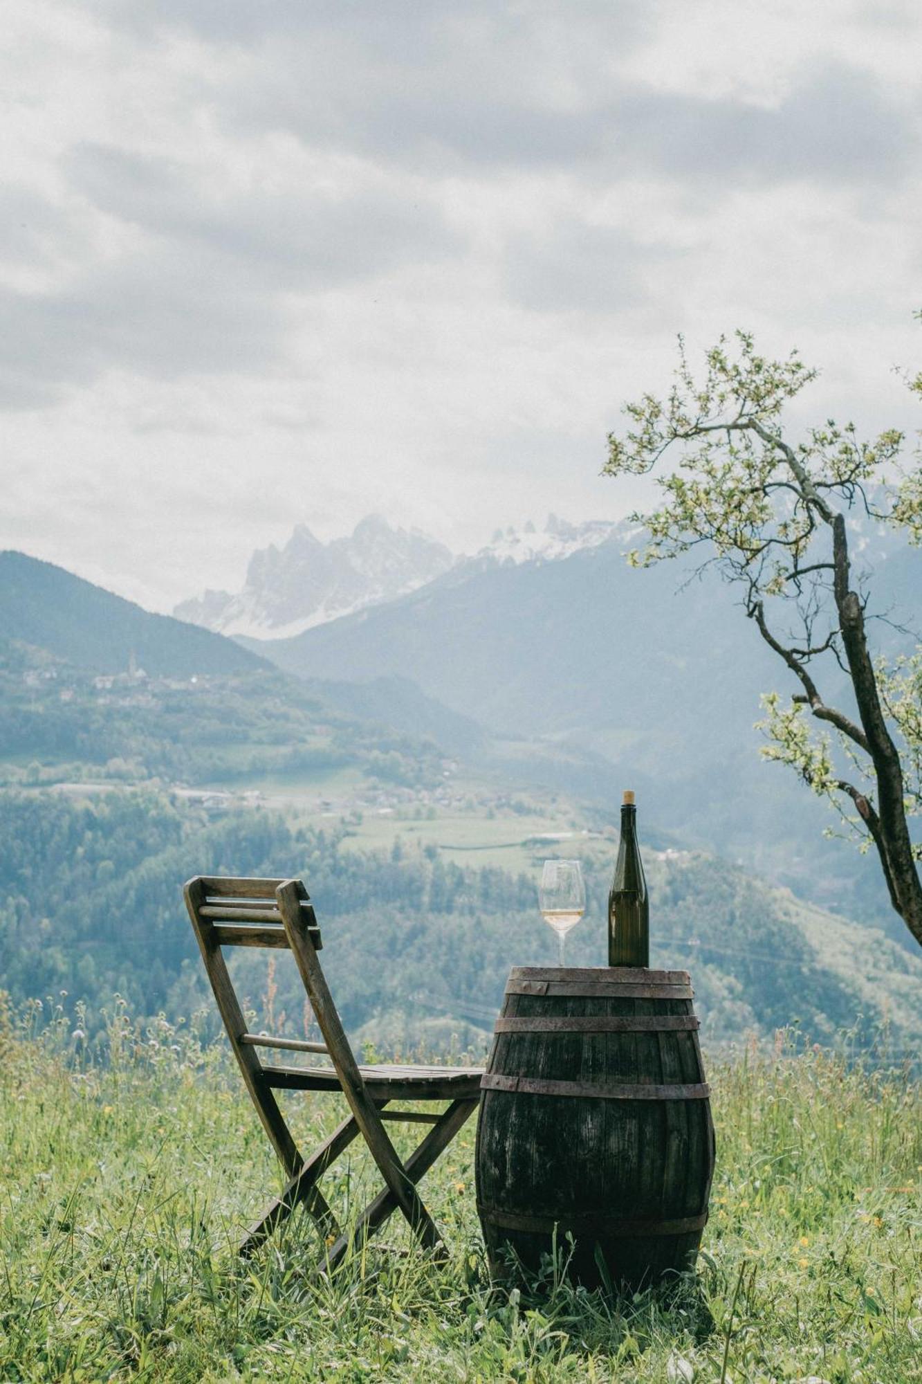
<path fill-rule="evenodd" d="M 245 649 L 0 556 L 0 988 L 14 1005 L 66 991 L 100 1034 L 115 994 L 213 1027 L 179 886 L 296 873 L 357 1041 L 482 1052 L 509 965 L 552 960 L 547 857 L 581 859 L 569 954 L 604 960 L 633 786 L 652 963 L 692 970 L 710 1045 L 796 1024 L 918 1052 L 922 962 L 865 862 L 822 840 L 820 804 L 759 764 L 746 688 L 757 699 L 767 670 L 739 652 L 750 631 L 713 592 L 680 609 L 681 592 L 653 590 L 671 655 L 644 655 L 620 545 L 590 538 L 485 556 Z M 508 534 L 504 548 L 518 551 Z M 593 642 L 599 601 L 613 632 Z M 707 698 L 714 650 L 728 685 Z M 255 1012 L 299 1035 L 287 960 L 234 966 Z"/>

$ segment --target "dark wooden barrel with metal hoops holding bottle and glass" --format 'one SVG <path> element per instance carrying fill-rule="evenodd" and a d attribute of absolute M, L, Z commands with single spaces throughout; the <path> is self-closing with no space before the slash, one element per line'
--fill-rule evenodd
<path fill-rule="evenodd" d="M 515 966 L 480 1082 L 478 1211 L 509 1280 L 557 1241 L 587 1287 L 694 1265 L 714 1169 L 688 972 Z M 509 1254 L 514 1251 L 514 1255 Z"/>

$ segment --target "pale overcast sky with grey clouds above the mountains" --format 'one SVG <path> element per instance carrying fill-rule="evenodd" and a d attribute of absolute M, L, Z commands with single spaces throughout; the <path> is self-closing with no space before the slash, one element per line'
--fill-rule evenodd
<path fill-rule="evenodd" d="M 7 0 L 0 547 L 150 609 L 295 523 L 616 519 L 736 327 L 918 428 L 915 0 Z"/>

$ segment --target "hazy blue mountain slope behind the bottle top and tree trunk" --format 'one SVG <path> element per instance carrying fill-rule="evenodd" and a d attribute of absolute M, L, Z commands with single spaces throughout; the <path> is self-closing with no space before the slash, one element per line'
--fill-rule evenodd
<path fill-rule="evenodd" d="M 630 783 L 648 819 L 684 843 L 825 907 L 858 900 L 898 936 L 874 862 L 824 841 L 825 804 L 759 756 L 760 693 L 793 688 L 735 592 L 694 579 L 688 562 L 634 570 L 624 545 L 557 562 L 471 563 L 389 605 L 248 646 L 302 675 L 413 680 L 541 753 L 587 754 L 558 765 L 557 782 L 609 807 Z M 911 623 L 918 555 L 887 549 L 875 562 L 872 608 Z M 885 623 L 875 628 L 903 638 Z M 824 695 L 851 710 L 840 675 L 824 680 Z"/>

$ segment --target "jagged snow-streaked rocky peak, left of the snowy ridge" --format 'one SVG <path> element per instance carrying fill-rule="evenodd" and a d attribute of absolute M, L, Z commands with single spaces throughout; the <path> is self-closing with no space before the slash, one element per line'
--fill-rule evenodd
<path fill-rule="evenodd" d="M 307 525 L 288 543 L 257 549 L 244 590 L 208 591 L 176 608 L 181 620 L 220 634 L 287 638 L 364 606 L 415 591 L 440 576 L 454 555 L 418 529 L 367 515 L 352 534 L 323 543 Z"/>

